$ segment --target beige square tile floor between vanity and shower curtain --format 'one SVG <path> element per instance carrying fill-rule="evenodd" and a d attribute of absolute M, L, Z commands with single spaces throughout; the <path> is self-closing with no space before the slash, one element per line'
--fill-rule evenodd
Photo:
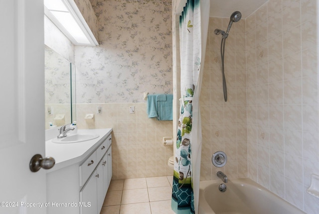
<path fill-rule="evenodd" d="M 174 214 L 173 176 L 111 180 L 100 214 Z"/>

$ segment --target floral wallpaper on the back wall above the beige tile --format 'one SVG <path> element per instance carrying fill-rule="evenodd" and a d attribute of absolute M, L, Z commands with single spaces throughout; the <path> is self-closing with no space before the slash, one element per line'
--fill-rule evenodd
<path fill-rule="evenodd" d="M 76 46 L 77 103 L 143 103 L 172 93 L 170 0 L 92 0 L 99 46 Z"/>

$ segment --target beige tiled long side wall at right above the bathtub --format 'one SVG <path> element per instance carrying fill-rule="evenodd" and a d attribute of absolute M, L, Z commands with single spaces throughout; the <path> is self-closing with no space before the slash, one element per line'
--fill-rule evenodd
<path fill-rule="evenodd" d="M 316 1 L 269 0 L 246 19 L 248 176 L 309 214 L 319 174 Z"/>

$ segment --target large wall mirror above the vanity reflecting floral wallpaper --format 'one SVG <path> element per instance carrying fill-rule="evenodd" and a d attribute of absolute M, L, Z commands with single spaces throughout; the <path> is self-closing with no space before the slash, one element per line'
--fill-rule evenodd
<path fill-rule="evenodd" d="M 76 120 L 75 66 L 48 46 L 44 50 L 45 129 L 49 129 Z"/>

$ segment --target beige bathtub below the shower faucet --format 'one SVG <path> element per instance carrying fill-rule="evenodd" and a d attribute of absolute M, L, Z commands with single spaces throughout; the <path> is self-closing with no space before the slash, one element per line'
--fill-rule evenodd
<path fill-rule="evenodd" d="M 225 192 L 218 189 L 222 183 L 200 182 L 199 214 L 305 214 L 248 178 L 228 180 Z"/>

